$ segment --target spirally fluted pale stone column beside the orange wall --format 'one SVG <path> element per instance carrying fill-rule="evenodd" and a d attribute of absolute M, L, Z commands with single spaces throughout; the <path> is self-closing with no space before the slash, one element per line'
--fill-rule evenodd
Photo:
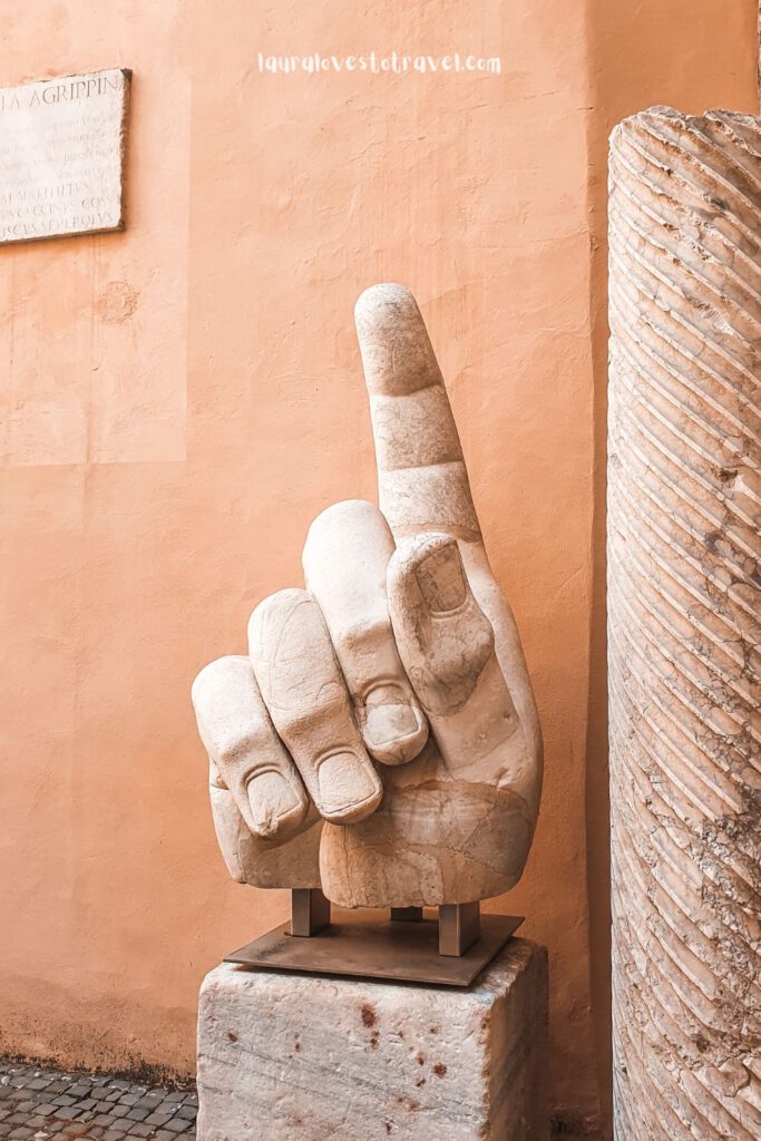
<path fill-rule="evenodd" d="M 617 1141 L 761 1138 L 760 128 L 612 138 Z"/>

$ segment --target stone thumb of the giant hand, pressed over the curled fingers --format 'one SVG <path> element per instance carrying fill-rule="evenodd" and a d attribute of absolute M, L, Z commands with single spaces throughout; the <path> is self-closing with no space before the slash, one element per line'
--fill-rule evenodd
<path fill-rule="evenodd" d="M 447 768 L 493 756 L 518 718 L 458 541 L 438 533 L 400 540 L 387 585 L 399 656 Z"/>

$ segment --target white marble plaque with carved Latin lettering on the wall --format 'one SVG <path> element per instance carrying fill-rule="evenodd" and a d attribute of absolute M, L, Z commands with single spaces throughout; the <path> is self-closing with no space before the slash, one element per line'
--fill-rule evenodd
<path fill-rule="evenodd" d="M 0 88 L 0 243 L 123 229 L 131 72 Z"/>

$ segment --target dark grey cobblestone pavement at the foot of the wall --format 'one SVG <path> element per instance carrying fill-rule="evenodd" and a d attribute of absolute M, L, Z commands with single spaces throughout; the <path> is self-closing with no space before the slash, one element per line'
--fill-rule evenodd
<path fill-rule="evenodd" d="M 194 1089 L 136 1085 L 105 1074 L 0 1059 L 2 1141 L 189 1141 L 197 1107 Z"/>

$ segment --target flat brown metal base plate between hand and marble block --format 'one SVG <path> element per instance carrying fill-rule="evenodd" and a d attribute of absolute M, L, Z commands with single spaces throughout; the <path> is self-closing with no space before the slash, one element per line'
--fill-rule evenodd
<path fill-rule="evenodd" d="M 435 914 L 435 913 L 434 913 Z M 388 912 L 333 907 L 330 926 L 309 938 L 283 923 L 234 950 L 226 963 L 302 974 L 349 974 L 399 982 L 467 987 L 523 923 L 519 915 L 481 915 L 480 937 L 459 956 L 438 954 L 438 922 L 389 921 Z"/>

